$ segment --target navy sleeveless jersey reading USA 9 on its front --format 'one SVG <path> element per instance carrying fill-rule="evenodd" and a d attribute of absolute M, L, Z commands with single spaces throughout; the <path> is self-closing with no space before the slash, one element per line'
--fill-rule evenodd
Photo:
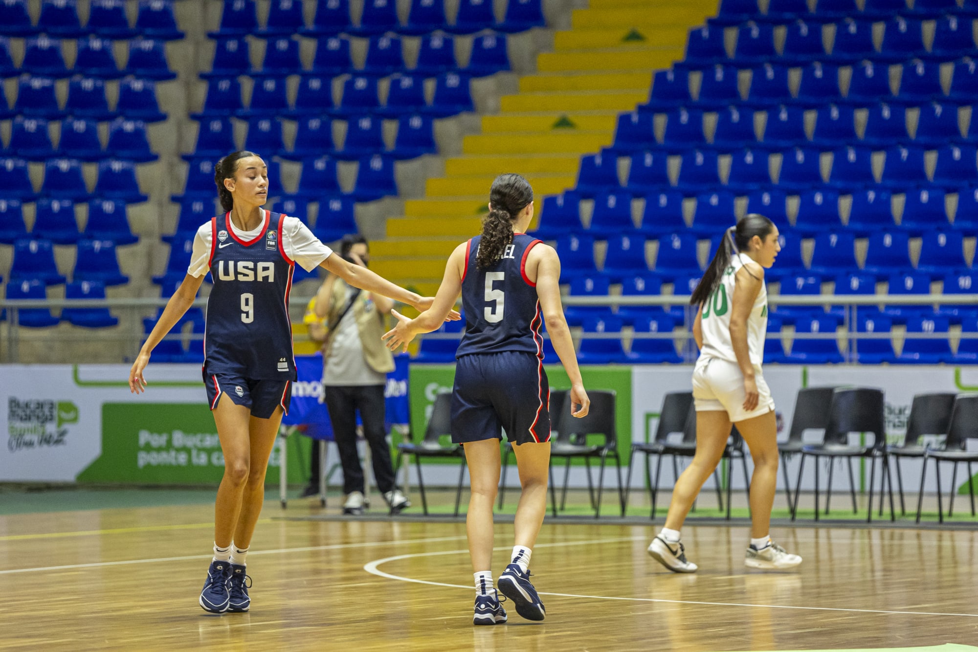
<path fill-rule="evenodd" d="M 253 240 L 238 238 L 230 213 L 210 220 L 210 275 L 204 370 L 237 373 L 254 380 L 295 376 L 289 290 L 294 261 L 281 242 L 284 215 L 265 210 L 265 225 Z"/>

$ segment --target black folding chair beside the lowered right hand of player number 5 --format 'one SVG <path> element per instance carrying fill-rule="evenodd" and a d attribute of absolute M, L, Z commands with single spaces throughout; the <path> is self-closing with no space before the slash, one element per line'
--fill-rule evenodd
<path fill-rule="evenodd" d="M 551 503 L 556 516 L 556 489 L 553 482 L 553 464 L 555 457 L 567 460 L 563 476 L 563 491 L 560 499 L 561 509 L 566 504 L 567 482 L 570 477 L 570 462 L 573 458 L 584 459 L 588 473 L 588 492 L 591 496 L 591 506 L 595 508 L 595 518 L 601 513 L 601 492 L 604 489 L 604 465 L 607 457 L 614 457 L 615 470 L 618 473 L 618 507 L 621 507 L 624 494 L 621 486 L 621 457 L 618 454 L 618 431 L 615 427 L 615 393 L 612 390 L 594 390 L 588 393 L 591 398 L 591 409 L 588 415 L 577 418 L 571 414 L 571 401 L 565 398 L 560 409 L 557 422 L 556 438 L 551 443 Z M 597 445 L 588 444 L 588 435 L 600 435 L 603 442 Z M 594 484 L 591 479 L 591 459 L 600 458 L 598 474 L 598 495 L 595 496 Z"/>

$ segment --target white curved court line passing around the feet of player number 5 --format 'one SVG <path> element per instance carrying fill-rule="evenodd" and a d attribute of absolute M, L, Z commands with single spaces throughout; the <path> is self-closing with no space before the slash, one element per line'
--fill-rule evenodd
<path fill-rule="evenodd" d="M 629 536 L 621 538 L 602 538 L 584 541 L 559 541 L 554 543 L 537 543 L 534 546 L 536 548 L 542 547 L 556 547 L 561 545 L 586 545 L 590 543 L 611 543 L 615 541 L 630 541 L 630 540 L 645 540 L 645 536 Z M 493 547 L 493 550 L 509 550 L 510 546 L 501 545 Z M 428 584 L 431 586 L 448 586 L 449 588 L 464 588 L 466 590 L 472 590 L 471 586 L 466 584 L 450 584 L 446 582 L 432 582 L 429 580 L 418 580 L 415 578 L 406 578 L 403 576 L 393 575 L 391 573 L 386 573 L 379 570 L 381 564 L 386 564 L 388 562 L 399 561 L 402 559 L 413 559 L 418 557 L 434 557 L 436 555 L 450 555 L 450 554 L 463 554 L 468 553 L 468 549 L 460 550 L 440 550 L 436 552 L 414 552 L 401 555 L 394 555 L 391 557 L 384 557 L 382 559 L 376 559 L 372 562 L 364 564 L 363 570 L 371 575 L 375 575 L 380 578 L 388 580 L 397 580 L 399 582 L 414 582 L 419 584 Z M 778 605 L 778 604 L 752 604 L 743 602 L 705 602 L 698 600 L 667 600 L 664 598 L 644 598 L 644 597 L 625 597 L 617 595 L 583 595 L 578 593 L 555 593 L 550 591 L 537 591 L 540 595 L 553 595 L 556 597 L 571 597 L 571 598 L 584 598 L 592 600 L 619 600 L 624 602 L 658 602 L 665 604 L 691 604 L 699 606 L 708 607 L 750 607 L 758 609 L 793 609 L 801 611 L 836 611 L 836 612 L 846 612 L 846 613 L 858 613 L 858 614 L 883 614 L 883 615 L 899 615 L 899 616 L 952 616 L 958 618 L 978 618 L 978 614 L 953 614 L 944 612 L 926 612 L 926 611 L 893 611 L 893 610 L 883 610 L 883 609 L 848 609 L 845 607 L 807 607 L 807 606 L 796 606 L 796 605 Z"/>

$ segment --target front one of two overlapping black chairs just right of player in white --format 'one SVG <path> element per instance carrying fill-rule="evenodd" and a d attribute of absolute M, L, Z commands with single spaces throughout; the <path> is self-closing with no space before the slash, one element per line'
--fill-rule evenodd
<path fill-rule="evenodd" d="M 801 479 L 805 472 L 805 458 L 815 458 L 815 520 L 819 520 L 819 460 L 830 460 L 828 467 L 828 495 L 825 499 L 825 513 L 828 513 L 828 502 L 832 491 L 832 468 L 834 460 L 845 458 L 849 463 L 849 486 L 853 495 L 853 512 L 858 511 L 856 504 L 856 485 L 853 480 L 853 458 L 869 460 L 869 504 L 867 523 L 872 521 L 872 485 L 875 482 L 876 460 L 882 460 L 882 476 L 880 477 L 880 500 L 883 500 L 886 474 L 889 473 L 889 458 L 886 456 L 886 417 L 885 401 L 882 390 L 867 388 L 837 389 L 832 394 L 832 402 L 828 408 L 828 424 L 825 426 L 824 441 L 817 445 L 805 445 L 801 448 L 801 465 L 798 468 L 798 482 L 795 484 L 794 507 L 791 510 L 791 520 L 798 513 L 798 496 L 801 494 Z M 849 433 L 872 433 L 871 445 L 850 445 Z M 893 508 L 893 493 L 890 492 L 890 520 L 896 520 Z"/>

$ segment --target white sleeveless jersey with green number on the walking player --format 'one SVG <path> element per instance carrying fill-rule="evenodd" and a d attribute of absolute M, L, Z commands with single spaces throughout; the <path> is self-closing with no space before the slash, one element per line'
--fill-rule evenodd
<path fill-rule="evenodd" d="M 735 254 L 731 263 L 724 270 L 720 285 L 713 295 L 703 303 L 701 328 L 703 332 L 703 349 L 700 358 L 716 357 L 736 363 L 731 341 L 731 308 L 733 307 L 733 286 L 736 283 L 736 273 L 743 267 L 744 261 L 750 260 L 741 254 Z M 764 361 L 764 336 L 768 330 L 768 287 L 762 281 L 761 291 L 754 300 L 754 307 L 747 318 L 747 349 L 750 350 L 750 362 L 760 367 Z"/>

